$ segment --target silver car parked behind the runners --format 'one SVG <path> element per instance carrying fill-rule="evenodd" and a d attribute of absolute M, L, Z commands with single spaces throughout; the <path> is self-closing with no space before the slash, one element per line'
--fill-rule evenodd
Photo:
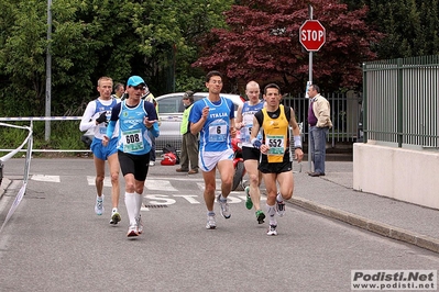
<path fill-rule="evenodd" d="M 179 127 L 182 124 L 183 111 L 185 110 L 182 99 L 184 92 L 169 93 L 156 97 L 158 103 L 158 116 L 161 120 L 160 136 L 156 138 L 155 149 L 162 151 L 166 144 L 171 144 L 178 151 L 182 149 L 182 134 Z M 194 94 L 194 101 L 206 98 L 208 92 L 197 92 Z M 243 99 L 237 94 L 220 94 L 233 101 L 234 111 L 243 103 Z"/>

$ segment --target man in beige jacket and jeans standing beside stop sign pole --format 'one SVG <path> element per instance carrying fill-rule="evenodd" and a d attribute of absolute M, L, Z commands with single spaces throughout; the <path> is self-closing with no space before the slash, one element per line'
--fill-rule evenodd
<path fill-rule="evenodd" d="M 328 100 L 320 96 L 318 86 L 309 86 L 308 96 L 311 99 L 308 109 L 308 124 L 311 159 L 314 161 L 314 172 L 308 172 L 308 175 L 320 177 L 325 176 L 326 139 L 329 128 L 332 127 L 331 111 Z"/>

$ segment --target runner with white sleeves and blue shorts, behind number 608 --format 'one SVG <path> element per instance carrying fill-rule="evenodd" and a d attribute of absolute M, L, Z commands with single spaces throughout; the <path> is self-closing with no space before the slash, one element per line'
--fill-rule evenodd
<path fill-rule="evenodd" d="M 106 160 L 110 168 L 111 176 L 111 220 L 110 224 L 118 224 L 120 222 L 119 207 L 119 160 L 117 154 L 118 132 L 111 135 L 111 139 L 108 145 L 102 145 L 103 135 L 107 133 L 107 124 L 110 119 L 112 109 L 120 102 L 111 97 L 113 81 L 109 77 L 101 77 L 98 80 L 97 90 L 99 98 L 90 101 L 87 104 L 86 111 L 84 112 L 83 120 L 79 124 L 80 131 L 87 131 L 89 128 L 95 130 L 95 136 L 90 145 L 90 149 L 94 154 L 94 161 L 96 168 L 96 204 L 95 213 L 102 215 L 103 213 L 103 179 L 106 177 Z"/>

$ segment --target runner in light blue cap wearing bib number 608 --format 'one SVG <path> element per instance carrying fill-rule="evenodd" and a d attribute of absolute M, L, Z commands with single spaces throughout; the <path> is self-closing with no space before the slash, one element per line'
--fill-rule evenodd
<path fill-rule="evenodd" d="M 152 143 L 149 132 L 158 137 L 157 113 L 154 105 L 141 99 L 145 81 L 131 76 L 127 82 L 129 98 L 118 103 L 111 112 L 103 145 L 109 143 L 119 121 L 118 156 L 125 179 L 125 206 L 130 218 L 128 237 L 139 236 L 143 232 L 140 209 L 143 188 L 149 170 Z"/>

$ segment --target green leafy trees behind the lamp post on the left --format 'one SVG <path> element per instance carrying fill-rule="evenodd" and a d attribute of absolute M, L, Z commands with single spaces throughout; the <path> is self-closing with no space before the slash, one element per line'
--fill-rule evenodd
<path fill-rule="evenodd" d="M 194 89 L 199 79 L 193 76 L 202 75 L 190 68 L 195 40 L 223 26 L 231 2 L 56 0 L 48 44 L 45 1 L 0 0 L 0 115 L 44 115 L 48 45 L 53 115 L 80 115 L 101 76 L 125 82 L 141 75 L 155 94 L 174 83 Z"/>

